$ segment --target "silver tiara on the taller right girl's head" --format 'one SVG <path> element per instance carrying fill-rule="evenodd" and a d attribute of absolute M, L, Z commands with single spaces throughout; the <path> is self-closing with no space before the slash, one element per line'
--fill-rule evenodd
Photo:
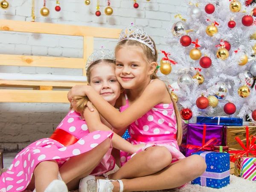
<path fill-rule="evenodd" d="M 153 41 L 151 41 L 146 32 L 143 32 L 142 29 L 138 29 L 138 27 L 134 26 L 133 23 L 125 27 L 125 29 L 120 32 L 118 43 L 126 39 L 139 41 L 140 43 L 148 46 L 152 50 L 153 55 L 156 54 Z"/>

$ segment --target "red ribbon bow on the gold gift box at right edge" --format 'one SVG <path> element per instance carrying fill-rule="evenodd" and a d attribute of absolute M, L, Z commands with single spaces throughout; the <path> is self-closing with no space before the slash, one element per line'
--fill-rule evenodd
<path fill-rule="evenodd" d="M 256 144 L 255 144 L 256 136 L 251 135 L 249 137 L 249 127 L 248 126 L 246 126 L 246 147 L 239 137 L 235 137 L 235 139 L 244 150 L 228 151 L 229 153 L 234 153 L 230 157 L 231 162 L 235 162 L 237 159 L 239 159 L 240 157 L 243 157 L 245 154 L 246 154 L 246 157 L 249 157 L 249 153 L 256 156 Z M 249 140 L 250 140 L 250 142 L 249 142 Z"/>

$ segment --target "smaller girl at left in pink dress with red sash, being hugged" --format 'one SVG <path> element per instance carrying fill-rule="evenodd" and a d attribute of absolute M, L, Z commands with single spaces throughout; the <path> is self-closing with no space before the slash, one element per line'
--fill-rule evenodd
<path fill-rule="evenodd" d="M 111 106 L 121 93 L 113 60 L 114 52 L 102 47 L 90 55 L 86 64 L 88 83 Z M 84 102 L 78 98 L 78 104 Z M 79 113 L 69 111 L 51 137 L 20 151 L 7 172 L 0 176 L 0 191 L 67 192 L 77 189 L 81 178 L 114 168 L 111 138 L 113 146 L 119 150 L 134 153 L 139 149 L 139 145 L 132 145 L 113 134 L 109 129 L 111 125 L 99 113 L 85 111 L 84 116 L 86 122 Z M 92 122 L 100 120 L 102 123 L 91 126 Z M 83 186 L 87 187 L 87 183 Z"/>

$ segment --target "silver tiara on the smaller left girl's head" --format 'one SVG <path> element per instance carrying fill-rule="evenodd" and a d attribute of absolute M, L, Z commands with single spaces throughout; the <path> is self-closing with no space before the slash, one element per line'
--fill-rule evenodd
<path fill-rule="evenodd" d="M 87 59 L 86 65 L 85 65 L 85 70 L 87 72 L 87 69 L 90 67 L 90 65 L 98 61 L 100 59 L 111 59 L 115 60 L 115 53 L 111 51 L 110 49 L 101 47 L 97 49 L 95 52 L 93 52 Z"/>

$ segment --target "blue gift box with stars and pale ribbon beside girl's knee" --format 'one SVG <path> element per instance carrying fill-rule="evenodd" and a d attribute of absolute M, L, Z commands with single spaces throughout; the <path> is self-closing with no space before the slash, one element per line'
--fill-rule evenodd
<path fill-rule="evenodd" d="M 199 184 L 212 188 L 221 188 L 230 184 L 230 154 L 213 151 L 199 151 L 204 158 L 207 169 L 201 177 L 192 180 L 192 184 Z"/>

